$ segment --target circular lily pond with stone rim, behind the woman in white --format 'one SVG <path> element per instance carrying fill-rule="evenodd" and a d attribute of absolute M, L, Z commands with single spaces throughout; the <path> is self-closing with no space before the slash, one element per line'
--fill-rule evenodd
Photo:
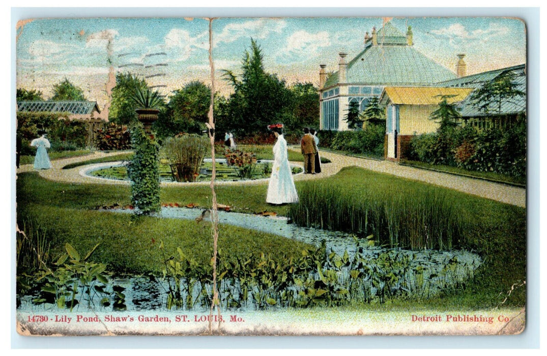
<path fill-rule="evenodd" d="M 227 165 L 225 159 L 216 159 L 216 179 L 219 181 L 236 182 L 238 180 L 270 178 L 272 162 L 273 161 L 271 160 L 258 160 L 255 165 L 249 167 L 249 172 L 246 174 L 246 177 L 248 178 L 242 178 L 240 168 Z M 85 170 L 84 174 L 103 179 L 129 181 L 129 177 L 127 177 L 127 163 L 128 162 L 125 161 L 118 161 L 94 165 L 88 170 Z M 209 182 L 211 180 L 212 168 L 211 159 L 204 159 L 200 166 L 200 172 L 199 176 L 196 178 L 196 182 Z M 292 165 L 292 171 L 293 174 L 303 172 L 302 167 L 296 165 Z M 167 160 L 160 160 L 160 181 L 176 182 Z"/>

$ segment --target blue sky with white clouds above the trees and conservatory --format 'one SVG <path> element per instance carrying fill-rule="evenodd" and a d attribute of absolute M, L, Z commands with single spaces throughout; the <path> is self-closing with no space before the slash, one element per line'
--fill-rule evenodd
<path fill-rule="evenodd" d="M 525 25 L 499 17 L 416 18 L 225 18 L 213 21 L 216 89 L 229 94 L 221 70 L 240 72 L 251 37 L 264 54 L 266 71 L 288 83 L 318 84 L 319 64 L 336 70 L 337 53 L 356 55 L 373 26 L 391 20 L 401 32 L 412 26 L 415 48 L 455 71 L 458 53 L 468 74 L 525 63 Z M 47 19 L 18 31 L 18 87 L 42 90 L 65 77 L 102 108 L 112 73 L 131 71 L 164 94 L 191 80 L 210 82 L 206 19 Z"/>

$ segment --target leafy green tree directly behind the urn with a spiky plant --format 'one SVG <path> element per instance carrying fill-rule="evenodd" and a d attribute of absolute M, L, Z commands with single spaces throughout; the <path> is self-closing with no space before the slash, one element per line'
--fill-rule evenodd
<path fill-rule="evenodd" d="M 144 79 L 131 73 L 116 74 L 116 86 L 112 89 L 112 101 L 108 111 L 108 120 L 115 124 L 127 125 L 137 121 L 137 103 L 132 99 L 139 89 L 148 89 Z"/>

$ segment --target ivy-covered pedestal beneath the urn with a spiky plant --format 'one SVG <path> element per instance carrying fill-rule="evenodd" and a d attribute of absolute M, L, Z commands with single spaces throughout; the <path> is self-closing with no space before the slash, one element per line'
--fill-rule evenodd
<path fill-rule="evenodd" d="M 159 145 L 153 136 L 144 133 L 142 124 L 131 130 L 131 144 L 135 155 L 127 166 L 131 179 L 131 204 L 137 214 L 151 214 L 160 210 Z"/>

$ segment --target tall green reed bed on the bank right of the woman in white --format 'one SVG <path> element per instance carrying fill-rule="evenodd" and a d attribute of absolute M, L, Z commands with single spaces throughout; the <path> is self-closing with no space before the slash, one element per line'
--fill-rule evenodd
<path fill-rule="evenodd" d="M 390 248 L 443 250 L 462 241 L 467 224 L 442 190 L 344 188 L 335 181 L 302 185 L 289 217 L 301 226 L 373 235 Z"/>

